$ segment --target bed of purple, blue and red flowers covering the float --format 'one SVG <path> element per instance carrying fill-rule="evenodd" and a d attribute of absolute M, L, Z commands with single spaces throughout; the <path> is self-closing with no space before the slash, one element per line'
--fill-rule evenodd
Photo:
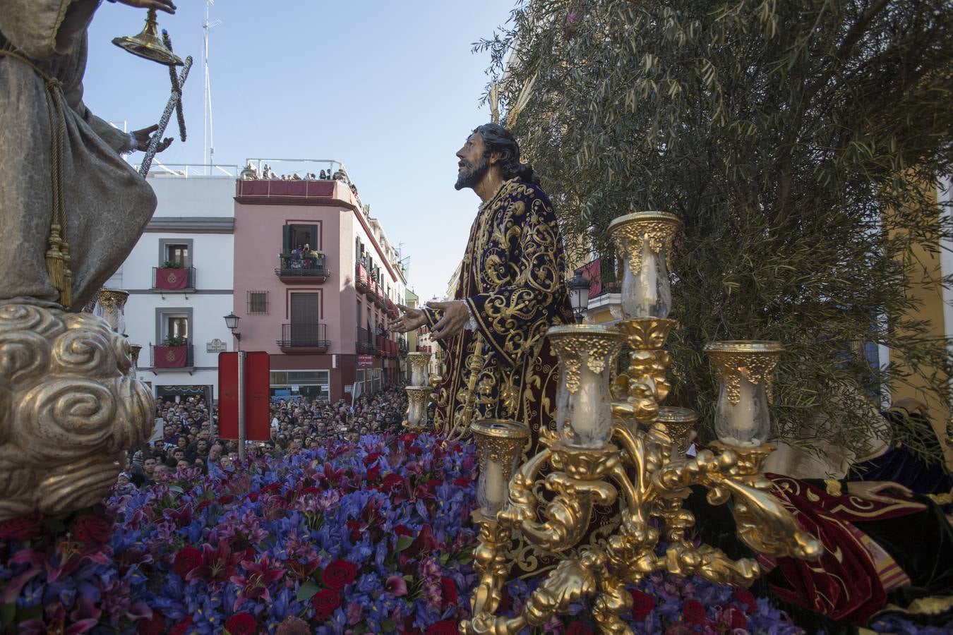
<path fill-rule="evenodd" d="M 456 633 L 475 478 L 471 445 L 368 435 L 0 523 L 0 632 Z M 504 606 L 536 584 L 511 582 Z M 747 589 L 659 573 L 631 592 L 636 633 L 801 632 Z M 594 632 L 589 615 L 540 632 Z"/>

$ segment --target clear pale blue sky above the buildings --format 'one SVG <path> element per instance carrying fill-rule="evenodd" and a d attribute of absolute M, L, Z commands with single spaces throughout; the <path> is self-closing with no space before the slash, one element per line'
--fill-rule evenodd
<path fill-rule="evenodd" d="M 504 23 L 515 0 L 217 0 L 210 69 L 215 163 L 248 157 L 344 162 L 363 203 L 410 256 L 410 285 L 442 295 L 476 214 L 472 190 L 456 191 L 456 157 L 489 120 L 478 100 L 487 54 L 471 52 Z M 185 87 L 189 136 L 160 155 L 203 163 L 202 0 L 159 13 L 175 51 L 193 55 Z M 85 101 L 131 129 L 158 121 L 169 96 L 165 67 L 112 46 L 138 32 L 144 10 L 103 3 L 90 29 Z M 174 118 L 170 130 L 175 130 Z"/>

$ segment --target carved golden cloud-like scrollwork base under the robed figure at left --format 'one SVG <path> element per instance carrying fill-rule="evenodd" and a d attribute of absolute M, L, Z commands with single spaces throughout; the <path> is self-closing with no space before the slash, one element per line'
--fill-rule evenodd
<path fill-rule="evenodd" d="M 152 433 L 128 340 L 91 313 L 0 306 L 0 521 L 100 501 Z"/>

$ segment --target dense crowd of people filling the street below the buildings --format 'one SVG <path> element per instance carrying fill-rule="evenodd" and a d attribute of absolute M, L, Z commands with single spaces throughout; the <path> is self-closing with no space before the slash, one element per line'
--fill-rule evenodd
<path fill-rule="evenodd" d="M 399 431 L 407 409 L 403 387 L 387 387 L 372 395 L 335 403 L 307 397 L 275 399 L 271 405 L 271 438 L 250 443 L 255 455 L 280 457 L 339 441 L 355 442 L 365 434 Z M 155 406 L 152 438 L 132 451 L 129 468 L 118 486 L 131 488 L 162 481 L 167 473 L 197 467 L 206 474 L 231 469 L 238 461 L 238 442 L 218 434 L 217 408 L 204 397 L 160 402 Z"/>

